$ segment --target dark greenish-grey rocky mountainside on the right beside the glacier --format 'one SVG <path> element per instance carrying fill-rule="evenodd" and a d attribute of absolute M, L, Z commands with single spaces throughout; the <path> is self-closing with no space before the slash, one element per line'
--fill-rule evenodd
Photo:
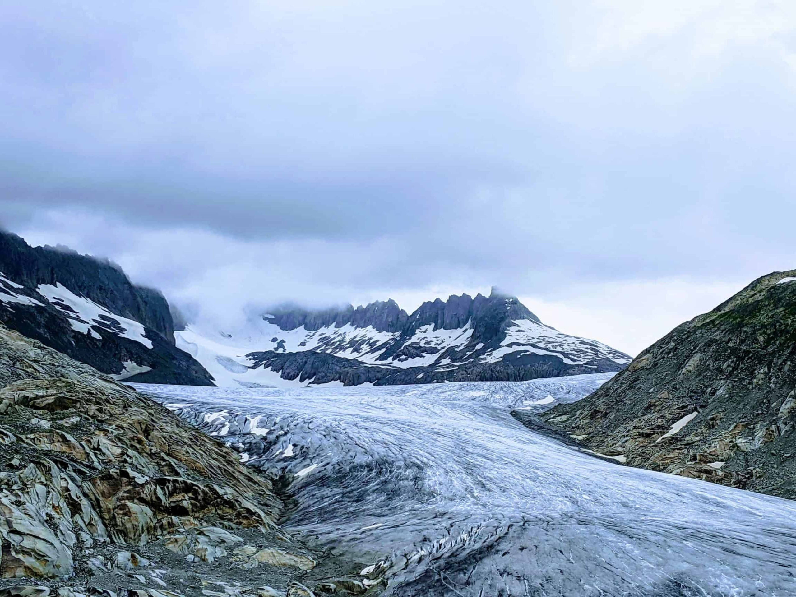
<path fill-rule="evenodd" d="M 632 466 L 796 498 L 796 270 L 755 280 L 543 417 Z"/>

